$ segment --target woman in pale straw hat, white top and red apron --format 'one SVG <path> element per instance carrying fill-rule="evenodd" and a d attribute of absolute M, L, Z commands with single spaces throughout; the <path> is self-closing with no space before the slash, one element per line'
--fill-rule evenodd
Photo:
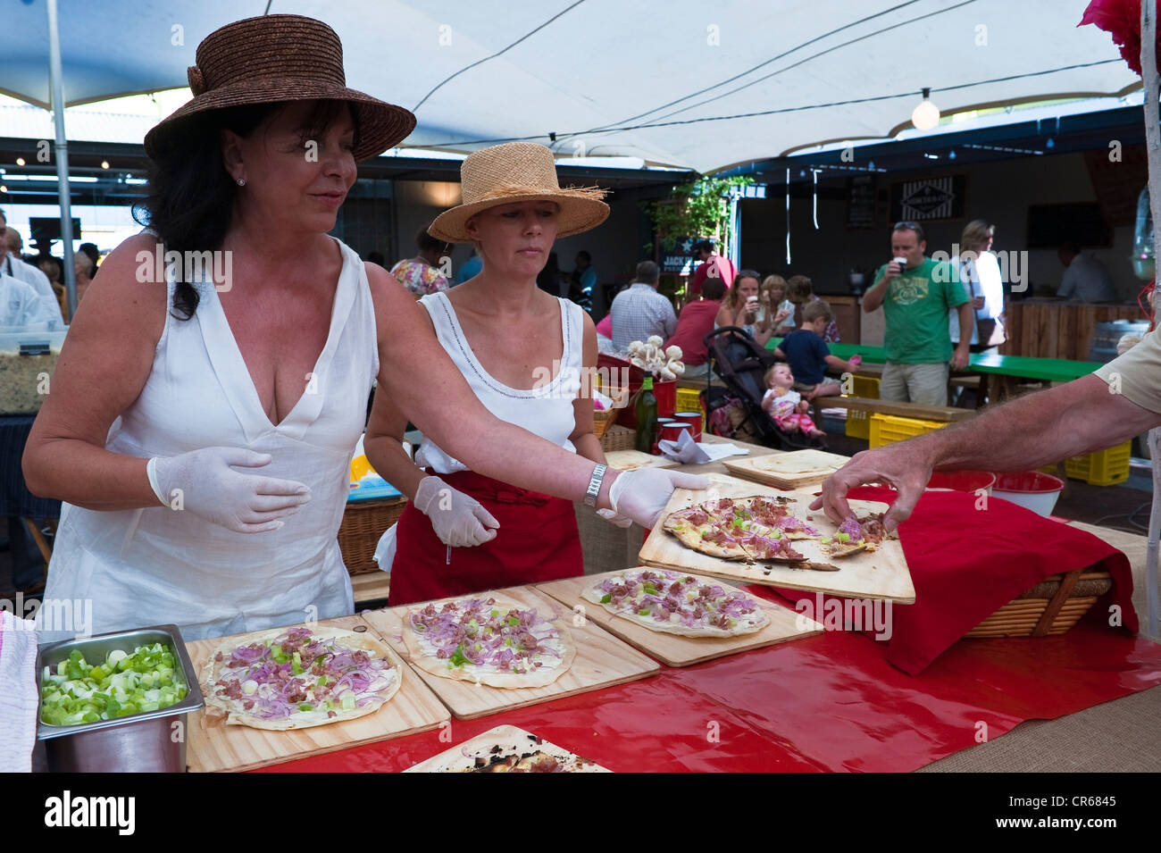
<path fill-rule="evenodd" d="M 582 383 L 597 363 L 597 333 L 578 305 L 539 289 L 536 275 L 557 237 L 599 225 L 608 207 L 593 190 L 560 189 L 542 145 L 483 149 L 461 174 L 464 204 L 430 231 L 474 243 L 484 268 L 421 298 L 426 319 L 496 417 L 604 463 Z M 399 409 L 378 406 L 365 444 L 375 470 L 412 498 L 395 529 L 392 606 L 583 573 L 571 501 L 468 470 L 430 440 L 412 463 L 402 447 L 405 426 Z"/>

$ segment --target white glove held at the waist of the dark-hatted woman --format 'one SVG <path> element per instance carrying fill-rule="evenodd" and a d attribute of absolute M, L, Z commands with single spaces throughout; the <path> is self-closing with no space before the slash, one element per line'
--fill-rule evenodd
<path fill-rule="evenodd" d="M 207 447 L 178 456 L 156 456 L 146 468 L 150 485 L 168 507 L 183 509 L 235 533 L 277 530 L 310 500 L 305 483 L 243 474 L 273 457 L 240 447 Z"/>

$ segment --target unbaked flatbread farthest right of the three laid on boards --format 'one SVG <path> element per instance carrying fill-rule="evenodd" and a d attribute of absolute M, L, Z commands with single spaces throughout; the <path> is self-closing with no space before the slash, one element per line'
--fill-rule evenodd
<path fill-rule="evenodd" d="M 650 630 L 686 637 L 753 634 L 770 621 L 744 592 L 669 570 L 622 572 L 580 595 Z"/>

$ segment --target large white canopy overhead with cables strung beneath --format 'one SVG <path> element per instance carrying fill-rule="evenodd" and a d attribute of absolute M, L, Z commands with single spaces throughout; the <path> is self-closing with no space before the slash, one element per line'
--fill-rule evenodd
<path fill-rule="evenodd" d="M 58 2 L 70 104 L 183 86 L 204 35 L 267 7 Z M 564 156 L 709 172 L 822 142 L 890 136 L 910 126 L 924 87 L 944 114 L 1124 94 L 1140 79 L 1108 34 L 1076 27 L 1086 5 L 272 0 L 269 12 L 331 24 L 348 85 L 417 114 L 409 146 L 468 151 L 529 138 Z M 45 0 L 5 3 L 0 91 L 46 106 L 48 55 Z"/>

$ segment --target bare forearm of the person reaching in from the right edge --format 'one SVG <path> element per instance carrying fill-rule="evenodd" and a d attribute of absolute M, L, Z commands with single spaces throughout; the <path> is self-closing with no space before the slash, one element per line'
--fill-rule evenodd
<path fill-rule="evenodd" d="M 913 451 L 944 470 L 1032 470 L 1111 447 L 1161 424 L 1097 376 L 1038 391 L 979 418 L 909 442 Z"/>

